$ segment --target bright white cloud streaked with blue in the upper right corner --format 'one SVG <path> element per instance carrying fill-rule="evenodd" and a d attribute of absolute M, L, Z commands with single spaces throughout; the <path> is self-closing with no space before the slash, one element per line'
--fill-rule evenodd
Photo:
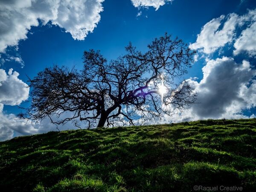
<path fill-rule="evenodd" d="M 236 29 L 243 29 L 237 37 Z M 247 14 L 237 15 L 231 13 L 225 17 L 221 15 L 206 23 L 195 43 L 190 44 L 191 49 L 199 49 L 206 54 L 215 52 L 226 44 L 233 44 L 234 55 L 240 52 L 247 52 L 250 56 L 256 55 L 256 9 L 250 10 Z"/>

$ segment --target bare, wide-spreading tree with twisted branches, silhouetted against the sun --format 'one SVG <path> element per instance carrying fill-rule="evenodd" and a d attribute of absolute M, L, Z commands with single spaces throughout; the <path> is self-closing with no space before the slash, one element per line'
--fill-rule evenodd
<path fill-rule="evenodd" d="M 196 94 L 180 77 L 191 67 L 195 51 L 170 35 L 155 38 L 148 51 L 137 51 L 131 43 L 126 54 L 107 60 L 99 51 L 84 51 L 84 68 L 53 66 L 29 79 L 32 103 L 21 118 L 34 121 L 52 116 L 53 123 L 73 119 L 87 121 L 88 128 L 156 119 L 172 115 L 174 109 L 190 107 Z M 72 112 L 72 116 L 61 115 Z"/>

